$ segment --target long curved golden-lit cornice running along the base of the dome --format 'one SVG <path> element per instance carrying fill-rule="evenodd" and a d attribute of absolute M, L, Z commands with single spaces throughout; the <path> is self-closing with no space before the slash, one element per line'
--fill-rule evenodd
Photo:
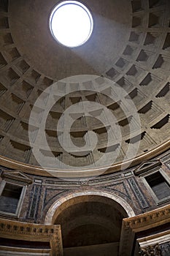
<path fill-rule="evenodd" d="M 134 158 L 133 160 L 128 160 L 126 162 L 119 162 L 115 165 L 112 165 L 110 167 L 103 167 L 103 168 L 96 168 L 94 170 L 91 170 L 89 173 L 89 170 L 86 172 L 85 169 L 80 169 L 78 172 L 69 172 L 69 170 L 50 170 L 46 168 L 42 168 L 39 166 L 34 165 L 28 165 L 23 162 L 18 162 L 13 159 L 9 159 L 7 157 L 0 156 L 0 165 L 3 165 L 4 167 L 9 167 L 15 170 L 21 170 L 24 173 L 29 173 L 31 175 L 36 176 L 45 176 L 45 177 L 58 177 L 58 178 L 87 178 L 89 176 L 93 177 L 96 175 L 101 175 L 101 171 L 103 170 L 103 174 L 110 174 L 110 173 L 116 173 L 120 170 L 125 170 L 127 167 L 133 167 L 135 165 L 139 165 L 144 161 L 147 161 L 149 159 L 152 159 L 152 157 L 156 157 L 160 154 L 162 154 L 164 151 L 168 150 L 170 148 L 170 140 L 166 141 L 166 143 L 162 143 L 156 148 L 153 148 L 151 151 L 140 155 L 139 157 Z M 57 173 L 57 174 L 56 174 Z M 78 173 L 78 174 L 77 174 Z"/>

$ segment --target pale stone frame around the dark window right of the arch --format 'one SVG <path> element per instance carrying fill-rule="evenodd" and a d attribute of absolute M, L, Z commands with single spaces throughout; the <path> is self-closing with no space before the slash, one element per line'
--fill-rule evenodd
<path fill-rule="evenodd" d="M 163 176 L 163 178 L 169 184 L 169 187 L 170 187 L 170 178 L 169 178 L 169 176 L 167 176 L 167 174 L 160 167 L 155 168 L 154 170 L 151 170 L 151 171 L 149 171 L 147 173 L 144 173 L 141 176 L 142 177 L 142 181 L 143 181 L 145 187 L 147 187 L 147 190 L 150 192 L 150 195 L 155 200 L 155 203 L 157 203 L 157 205 L 160 205 L 162 203 L 168 202 L 170 200 L 170 195 L 169 195 L 169 197 L 165 197 L 165 198 L 163 198 L 161 200 L 158 199 L 157 195 L 155 194 L 155 192 L 153 192 L 152 187 L 150 187 L 150 184 L 147 182 L 147 179 L 146 179 L 148 176 L 151 176 L 154 173 L 160 173 L 161 176 Z"/>

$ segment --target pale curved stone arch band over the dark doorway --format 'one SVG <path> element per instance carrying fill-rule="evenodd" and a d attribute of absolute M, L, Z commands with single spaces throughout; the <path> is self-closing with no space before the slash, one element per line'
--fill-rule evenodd
<path fill-rule="evenodd" d="M 104 192 L 100 190 L 95 191 L 82 191 L 82 192 L 72 192 L 69 195 L 66 195 L 53 203 L 53 205 L 49 208 L 47 211 L 46 217 L 45 217 L 45 225 L 52 225 L 54 222 L 54 216 L 55 211 L 62 206 L 63 203 L 66 203 L 67 200 L 71 200 L 73 198 L 77 197 L 83 197 L 83 196 L 100 196 L 100 197 L 107 197 L 111 200 L 114 200 L 116 203 L 118 203 L 127 213 L 128 217 L 134 217 L 135 213 L 134 210 L 131 208 L 131 206 L 120 196 L 118 195 L 112 195 L 110 192 Z"/>

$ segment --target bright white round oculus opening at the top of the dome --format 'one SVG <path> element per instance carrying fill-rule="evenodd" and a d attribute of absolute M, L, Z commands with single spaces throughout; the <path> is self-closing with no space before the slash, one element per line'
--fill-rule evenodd
<path fill-rule="evenodd" d="M 88 41 L 93 31 L 93 18 L 84 4 L 63 1 L 50 15 L 50 31 L 62 45 L 74 48 Z"/>

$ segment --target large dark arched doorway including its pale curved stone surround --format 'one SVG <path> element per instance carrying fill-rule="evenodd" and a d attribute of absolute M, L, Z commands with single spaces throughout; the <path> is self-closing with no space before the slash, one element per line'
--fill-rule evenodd
<path fill-rule="evenodd" d="M 46 224 L 61 225 L 64 256 L 118 255 L 122 220 L 134 216 L 134 211 L 123 199 L 112 196 L 82 192 L 53 204 Z"/>

